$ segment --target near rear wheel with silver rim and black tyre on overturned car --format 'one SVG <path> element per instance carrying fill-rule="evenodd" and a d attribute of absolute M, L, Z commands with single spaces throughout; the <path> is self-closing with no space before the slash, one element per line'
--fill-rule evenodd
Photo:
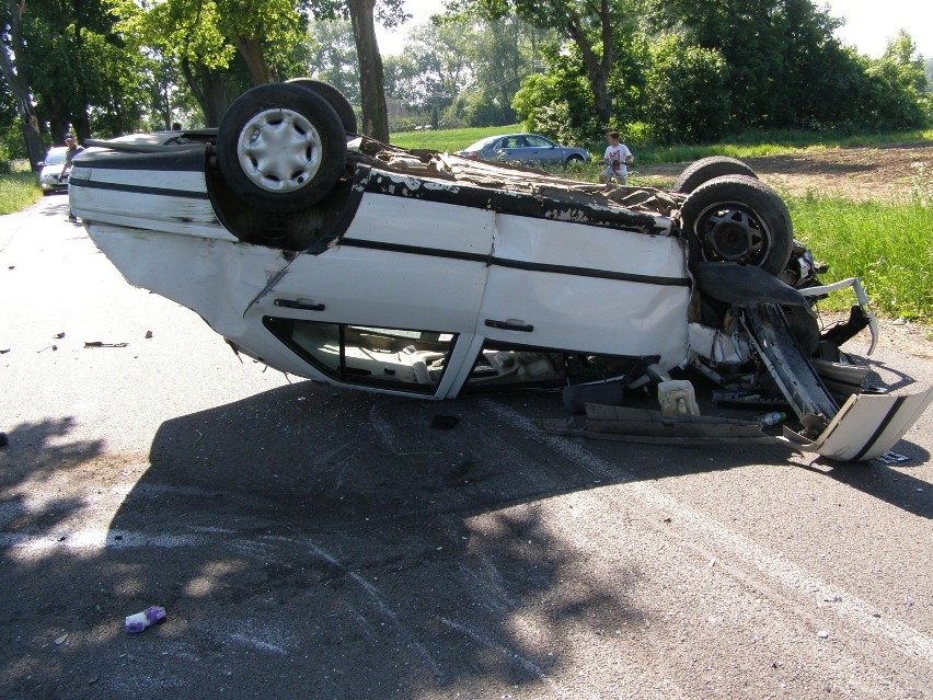
<path fill-rule="evenodd" d="M 346 167 L 346 133 L 320 94 L 269 83 L 243 93 L 217 133 L 217 164 L 246 204 L 297 211 L 320 202 Z"/>

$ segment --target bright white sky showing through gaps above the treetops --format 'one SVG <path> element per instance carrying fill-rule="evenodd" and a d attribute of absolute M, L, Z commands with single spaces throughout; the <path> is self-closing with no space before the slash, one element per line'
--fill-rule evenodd
<path fill-rule="evenodd" d="M 819 8 L 825 0 L 816 0 Z M 887 43 L 905 28 L 924 58 L 933 58 L 933 1 L 931 0 L 828 0 L 829 13 L 845 19 L 836 35 L 860 54 L 880 58 Z M 427 22 L 431 13 L 442 11 L 440 0 L 405 0 L 412 20 L 390 32 L 377 24 L 379 50 L 383 56 L 401 54 L 408 30 Z"/>

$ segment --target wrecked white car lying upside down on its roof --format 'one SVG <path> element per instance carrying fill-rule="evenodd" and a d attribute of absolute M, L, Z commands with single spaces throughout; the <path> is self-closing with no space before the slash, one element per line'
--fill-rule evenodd
<path fill-rule="evenodd" d="M 820 335 L 829 289 L 733 159 L 673 192 L 607 191 L 359 137 L 308 79 L 245 93 L 219 129 L 91 145 L 70 197 L 97 246 L 283 371 L 445 399 L 692 367 L 770 383 L 803 425 L 788 438 L 846 460 L 885 452 L 933 398 L 860 394 L 864 372 L 831 362 L 873 319 L 856 305 Z"/>

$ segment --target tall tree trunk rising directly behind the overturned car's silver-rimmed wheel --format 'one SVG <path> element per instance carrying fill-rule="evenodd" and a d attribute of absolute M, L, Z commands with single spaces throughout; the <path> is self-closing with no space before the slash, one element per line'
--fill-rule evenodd
<path fill-rule="evenodd" d="M 359 59 L 359 92 L 362 102 L 362 133 L 389 141 L 389 111 L 382 56 L 376 41 L 373 10 L 376 0 L 348 0 L 356 54 Z"/>

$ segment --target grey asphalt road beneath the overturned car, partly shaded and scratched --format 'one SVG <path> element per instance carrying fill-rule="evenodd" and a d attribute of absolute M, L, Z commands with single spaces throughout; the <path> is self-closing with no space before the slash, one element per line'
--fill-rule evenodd
<path fill-rule="evenodd" d="M 839 466 L 339 391 L 66 215 L 0 219 L 0 698 L 933 697 L 933 412 L 909 462 Z"/>

